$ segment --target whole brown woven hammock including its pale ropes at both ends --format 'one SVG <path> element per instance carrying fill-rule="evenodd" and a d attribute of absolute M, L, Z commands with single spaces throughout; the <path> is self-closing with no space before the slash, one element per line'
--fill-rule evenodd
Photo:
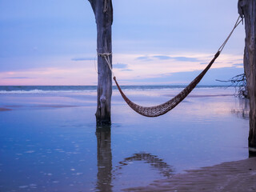
<path fill-rule="evenodd" d="M 194 87 L 198 85 L 198 82 L 201 81 L 203 76 L 210 69 L 210 66 L 212 66 L 212 64 L 215 62 L 216 58 L 218 58 L 218 55 L 221 54 L 224 46 L 226 46 L 226 42 L 228 42 L 231 34 L 233 34 L 234 29 L 238 26 L 238 24 L 240 22 L 242 22 L 242 19 L 240 19 L 240 16 L 239 16 L 237 22 L 234 25 L 233 30 L 231 30 L 229 36 L 226 38 L 225 42 L 223 42 L 222 46 L 220 46 L 220 48 L 218 49 L 218 52 L 215 54 L 214 58 L 211 60 L 211 62 L 208 64 L 208 66 L 206 66 L 206 69 L 203 70 L 202 73 L 198 75 L 198 77 L 194 78 L 194 80 L 192 82 L 190 82 L 190 85 L 186 86 L 186 88 L 184 90 L 182 90 L 182 92 L 180 92 L 174 98 L 170 99 L 168 102 L 165 102 L 158 106 L 138 106 L 134 102 L 131 102 L 130 99 L 127 98 L 126 95 L 122 92 L 121 87 L 118 85 L 118 82 L 114 76 L 114 73 L 112 71 L 112 66 L 110 64 L 110 57 L 109 57 L 111 53 L 103 53 L 103 54 L 98 53 L 98 55 L 102 56 L 103 58 L 106 59 L 106 63 L 109 66 L 109 68 L 113 74 L 114 82 L 118 86 L 118 90 L 119 90 L 120 94 L 122 94 L 122 98 L 126 101 L 126 103 L 130 106 L 130 108 L 135 110 L 138 114 L 142 114 L 143 116 L 146 116 L 146 117 L 158 117 L 158 116 L 160 116 L 162 114 L 166 114 L 168 111 L 174 109 L 174 107 L 177 106 L 178 103 L 182 102 L 182 100 L 184 98 L 186 98 L 186 96 L 188 94 L 190 94 L 190 92 L 194 89 Z"/>

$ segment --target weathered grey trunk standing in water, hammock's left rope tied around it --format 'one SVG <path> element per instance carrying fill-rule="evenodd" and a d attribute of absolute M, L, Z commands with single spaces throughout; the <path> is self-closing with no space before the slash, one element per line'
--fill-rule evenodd
<path fill-rule="evenodd" d="M 111 26 L 113 22 L 112 0 L 89 0 L 95 14 L 97 24 L 97 52 L 112 52 Z M 110 63 L 112 56 L 110 54 Z M 112 74 L 106 59 L 98 55 L 98 88 L 97 88 L 96 121 L 98 124 L 111 123 Z"/>

